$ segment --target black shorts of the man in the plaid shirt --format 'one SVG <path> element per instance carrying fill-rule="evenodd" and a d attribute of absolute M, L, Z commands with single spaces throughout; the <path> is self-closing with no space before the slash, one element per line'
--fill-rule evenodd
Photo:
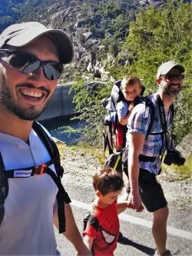
<path fill-rule="evenodd" d="M 167 206 L 164 191 L 150 171 L 140 169 L 139 186 L 141 199 L 147 211 L 154 212 Z"/>

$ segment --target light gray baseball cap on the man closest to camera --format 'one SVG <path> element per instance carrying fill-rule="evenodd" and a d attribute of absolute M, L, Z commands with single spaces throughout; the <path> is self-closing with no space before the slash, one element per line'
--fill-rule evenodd
<path fill-rule="evenodd" d="M 60 29 L 48 29 L 39 22 L 24 22 L 10 25 L 0 35 L 0 48 L 4 45 L 22 47 L 30 44 L 41 35 L 50 35 L 58 49 L 60 62 L 70 63 L 74 56 L 73 43 Z"/>

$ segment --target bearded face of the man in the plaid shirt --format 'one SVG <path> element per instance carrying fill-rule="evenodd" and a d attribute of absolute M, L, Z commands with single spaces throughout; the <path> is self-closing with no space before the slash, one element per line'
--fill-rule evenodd
<path fill-rule="evenodd" d="M 183 75 L 178 68 L 172 68 L 167 75 L 161 75 L 157 82 L 161 88 L 161 91 L 171 97 L 177 96 L 183 85 Z"/>

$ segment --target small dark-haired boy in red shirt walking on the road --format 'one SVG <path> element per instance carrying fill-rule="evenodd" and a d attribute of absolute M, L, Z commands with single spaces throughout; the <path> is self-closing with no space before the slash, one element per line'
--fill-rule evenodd
<path fill-rule="evenodd" d="M 83 232 L 84 244 L 94 256 L 113 256 L 119 236 L 118 214 L 127 208 L 127 201 L 118 202 L 124 187 L 121 174 L 105 167 L 93 178 L 96 198 Z"/>

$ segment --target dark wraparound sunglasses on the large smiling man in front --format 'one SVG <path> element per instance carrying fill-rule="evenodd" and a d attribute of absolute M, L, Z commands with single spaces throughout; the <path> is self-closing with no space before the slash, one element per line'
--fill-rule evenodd
<path fill-rule="evenodd" d="M 63 71 L 63 65 L 60 62 L 41 62 L 35 55 L 28 52 L 0 49 L 0 58 L 6 58 L 5 62 L 8 65 L 23 74 L 29 74 L 42 67 L 45 78 L 48 80 L 57 80 Z"/>

